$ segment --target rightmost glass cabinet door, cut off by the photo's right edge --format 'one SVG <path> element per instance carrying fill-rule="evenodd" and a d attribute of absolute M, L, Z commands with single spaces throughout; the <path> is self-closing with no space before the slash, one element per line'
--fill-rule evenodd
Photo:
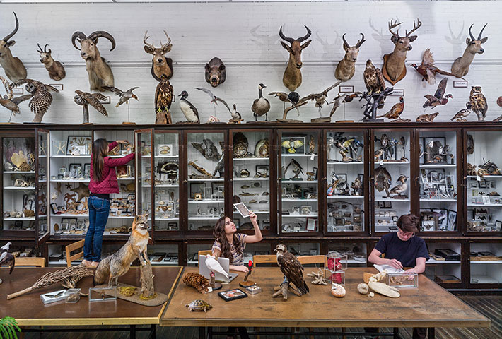
<path fill-rule="evenodd" d="M 502 132 L 467 131 L 467 232 L 501 232 Z"/>

